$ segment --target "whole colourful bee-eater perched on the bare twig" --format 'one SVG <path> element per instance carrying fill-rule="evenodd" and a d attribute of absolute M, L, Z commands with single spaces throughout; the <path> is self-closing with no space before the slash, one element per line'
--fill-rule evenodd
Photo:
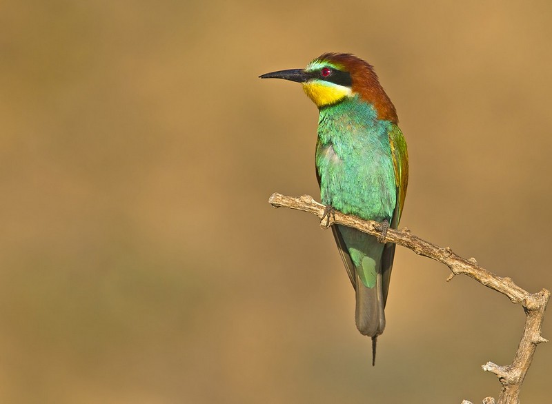
<path fill-rule="evenodd" d="M 322 203 L 330 210 L 397 228 L 408 183 L 406 142 L 397 112 L 373 67 L 348 53 L 325 53 L 305 69 L 260 76 L 302 83 L 319 109 L 315 163 Z M 343 225 L 332 226 L 337 248 L 355 288 L 355 321 L 371 336 L 385 327 L 395 244 L 380 243 Z"/>

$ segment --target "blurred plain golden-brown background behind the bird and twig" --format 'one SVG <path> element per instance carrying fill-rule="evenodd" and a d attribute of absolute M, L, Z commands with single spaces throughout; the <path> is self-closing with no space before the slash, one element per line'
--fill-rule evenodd
<path fill-rule="evenodd" d="M 331 232 L 268 204 L 319 197 L 317 110 L 257 76 L 370 61 L 408 141 L 401 225 L 537 292 L 551 17 L 544 0 L 3 2 L 0 401 L 497 396 L 480 365 L 511 363 L 522 308 L 404 248 L 371 366 Z M 522 401 L 549 401 L 551 360 L 538 347 Z"/>

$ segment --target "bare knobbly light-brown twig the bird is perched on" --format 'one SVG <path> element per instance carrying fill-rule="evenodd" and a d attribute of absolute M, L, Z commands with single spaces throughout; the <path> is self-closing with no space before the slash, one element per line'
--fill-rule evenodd
<path fill-rule="evenodd" d="M 312 196 L 303 195 L 295 198 L 282 194 L 272 194 L 268 199 L 271 205 L 275 208 L 290 208 L 311 212 L 318 216 L 322 221 L 325 212 L 325 206 L 317 203 Z M 373 236 L 382 236 L 382 224 L 376 221 L 364 221 L 355 216 L 335 212 L 332 215 L 333 223 L 346 225 L 350 228 L 355 228 L 362 232 L 372 234 Z M 326 220 L 320 223 L 322 227 L 327 227 Z M 329 223 L 329 224 L 333 224 Z M 433 243 L 420 239 L 410 230 L 404 228 L 402 230 L 389 229 L 385 236 L 386 243 L 395 243 L 402 245 L 410 250 L 413 250 L 418 255 L 427 256 L 428 258 L 444 263 L 452 272 L 449 276 L 449 281 L 453 276 L 464 274 L 475 281 L 490 287 L 497 292 L 504 294 L 512 303 L 520 304 L 524 308 L 527 316 L 525 327 L 523 330 L 520 345 L 517 347 L 517 352 L 513 358 L 511 365 L 499 366 L 495 363 L 488 362 L 482 366 L 486 372 L 496 374 L 502 384 L 502 390 L 498 396 L 497 404 L 517 404 L 519 403 L 520 388 L 523 384 L 525 375 L 529 370 L 535 348 L 539 343 L 548 342 L 541 335 L 542 320 L 544 318 L 544 310 L 550 298 L 550 292 L 546 289 L 537 293 L 529 293 L 517 286 L 510 278 L 502 278 L 489 272 L 477 265 L 475 259 L 464 259 L 455 254 L 449 247 L 439 247 Z M 485 398 L 484 402 L 492 403 L 492 397 Z"/>

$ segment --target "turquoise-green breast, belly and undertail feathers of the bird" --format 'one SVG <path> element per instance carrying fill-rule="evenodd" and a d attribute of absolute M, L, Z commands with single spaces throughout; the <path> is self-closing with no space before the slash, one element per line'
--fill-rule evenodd
<path fill-rule="evenodd" d="M 377 119 L 373 107 L 359 97 L 320 110 L 316 168 L 322 203 L 362 219 L 391 223 L 397 205 L 389 143 L 394 128 Z M 383 245 L 371 245 L 375 238 L 357 230 L 339 226 L 338 231 L 362 283 L 374 287 Z"/>

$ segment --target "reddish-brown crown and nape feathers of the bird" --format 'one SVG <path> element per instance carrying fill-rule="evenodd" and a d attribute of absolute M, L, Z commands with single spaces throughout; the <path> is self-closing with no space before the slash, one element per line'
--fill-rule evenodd
<path fill-rule="evenodd" d="M 374 105 L 377 117 L 385 121 L 398 123 L 399 118 L 397 117 L 395 105 L 387 97 L 372 65 L 350 53 L 324 53 L 317 59 L 342 65 L 351 74 L 353 92 Z"/>

